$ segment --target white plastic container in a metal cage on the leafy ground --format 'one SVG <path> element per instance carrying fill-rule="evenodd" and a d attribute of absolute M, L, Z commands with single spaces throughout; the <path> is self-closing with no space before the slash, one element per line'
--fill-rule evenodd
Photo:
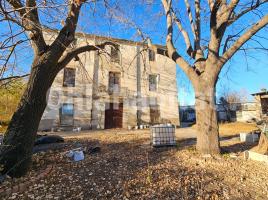
<path fill-rule="evenodd" d="M 171 124 L 151 126 L 151 143 L 154 147 L 176 145 L 175 126 Z"/>

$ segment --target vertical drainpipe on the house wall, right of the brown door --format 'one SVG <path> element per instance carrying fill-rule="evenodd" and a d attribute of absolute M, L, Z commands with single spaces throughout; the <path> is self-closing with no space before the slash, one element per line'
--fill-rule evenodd
<path fill-rule="evenodd" d="M 136 48 L 137 59 L 136 59 L 136 68 L 137 68 L 137 125 L 141 125 L 141 114 L 142 114 L 142 105 L 141 105 L 141 62 L 140 62 L 140 47 Z"/>

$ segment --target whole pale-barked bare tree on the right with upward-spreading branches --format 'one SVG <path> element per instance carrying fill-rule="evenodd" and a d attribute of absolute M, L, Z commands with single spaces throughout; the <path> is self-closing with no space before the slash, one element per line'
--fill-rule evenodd
<path fill-rule="evenodd" d="M 215 108 L 218 76 L 226 62 L 267 25 L 268 15 L 259 10 L 267 0 L 208 0 L 207 3 L 185 0 L 184 3 L 191 34 L 182 23 L 185 20 L 181 7 L 178 8 L 179 3 L 176 7 L 171 0 L 162 0 L 167 23 L 167 50 L 157 49 L 150 40 L 149 46 L 174 60 L 191 80 L 195 90 L 197 149 L 202 153 L 218 154 L 220 145 Z M 202 21 L 202 16 L 203 19 L 207 16 L 206 10 L 209 10 L 209 22 Z M 247 24 L 246 28 L 235 27 L 236 34 L 226 35 L 228 29 L 248 13 L 257 13 L 253 18 L 255 22 L 250 26 Z M 174 25 L 184 39 L 185 52 L 179 52 L 182 48 L 178 46 L 176 49 L 174 45 Z M 209 33 L 208 40 L 201 35 L 206 32 Z M 206 42 L 205 45 L 201 45 L 202 41 Z"/>

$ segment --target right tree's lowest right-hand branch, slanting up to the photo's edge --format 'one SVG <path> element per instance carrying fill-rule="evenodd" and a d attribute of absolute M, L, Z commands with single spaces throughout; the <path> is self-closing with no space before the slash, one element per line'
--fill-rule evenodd
<path fill-rule="evenodd" d="M 268 24 L 268 15 L 265 15 L 256 24 L 251 26 L 242 36 L 240 36 L 234 44 L 220 57 L 221 65 L 223 66 L 253 35 Z"/>

